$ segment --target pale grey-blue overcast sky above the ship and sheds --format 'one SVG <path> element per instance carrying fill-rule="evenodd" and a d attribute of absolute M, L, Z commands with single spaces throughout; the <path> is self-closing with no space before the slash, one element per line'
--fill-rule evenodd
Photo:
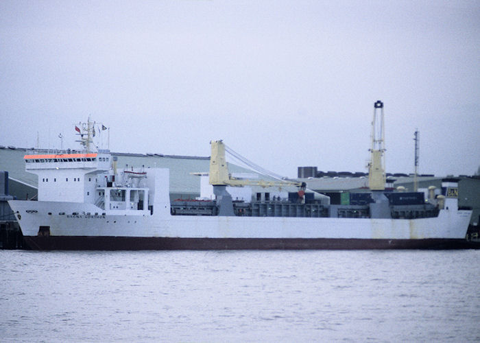
<path fill-rule="evenodd" d="M 1 1 L 0 144 L 208 156 L 366 171 L 385 103 L 389 172 L 480 165 L 478 1 Z"/>

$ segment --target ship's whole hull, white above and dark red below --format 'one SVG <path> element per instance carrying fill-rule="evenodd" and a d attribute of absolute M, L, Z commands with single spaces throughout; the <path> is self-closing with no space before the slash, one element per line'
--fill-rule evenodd
<path fill-rule="evenodd" d="M 112 215 L 93 204 L 10 200 L 25 241 L 39 250 L 468 248 L 471 211 L 417 220 Z M 52 212 L 55 209 L 55 212 Z"/>

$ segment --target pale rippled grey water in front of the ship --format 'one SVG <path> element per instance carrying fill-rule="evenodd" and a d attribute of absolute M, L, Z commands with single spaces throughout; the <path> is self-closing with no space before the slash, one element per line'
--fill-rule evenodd
<path fill-rule="evenodd" d="M 480 340 L 480 250 L 0 259 L 0 341 Z"/>

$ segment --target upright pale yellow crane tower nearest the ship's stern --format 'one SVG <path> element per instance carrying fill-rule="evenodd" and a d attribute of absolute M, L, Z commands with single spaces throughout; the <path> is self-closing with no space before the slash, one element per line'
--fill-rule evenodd
<path fill-rule="evenodd" d="M 374 104 L 372 121 L 371 160 L 368 164 L 368 186 L 372 191 L 385 190 L 385 130 L 383 126 L 383 102 Z"/>

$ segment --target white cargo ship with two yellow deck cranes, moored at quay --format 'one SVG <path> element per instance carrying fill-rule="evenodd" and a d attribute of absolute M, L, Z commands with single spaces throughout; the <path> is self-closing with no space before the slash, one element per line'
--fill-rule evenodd
<path fill-rule="evenodd" d="M 375 103 L 377 111 L 383 104 Z M 381 127 L 383 118 L 381 118 Z M 375 125 L 375 124 L 374 124 Z M 382 129 L 382 128 L 381 128 Z M 38 175 L 38 201 L 9 200 L 25 243 L 35 250 L 220 249 L 444 249 L 464 248 L 470 209 L 459 209 L 456 179 L 442 195 L 385 189 L 383 133 L 372 133 L 370 191 L 349 204 L 297 182 L 235 178 L 225 145 L 211 142 L 211 199 L 169 198 L 169 169 L 119 170 L 108 150 L 91 150 L 91 121 L 79 132 L 80 152 L 27 154 Z M 81 132 L 82 130 L 82 132 Z M 378 128 L 373 128 L 373 131 Z M 378 132 L 377 132 L 378 133 Z M 377 138 L 376 138 L 377 137 Z M 232 189 L 251 185 L 296 187 L 233 200 Z M 288 186 L 288 187 L 287 187 Z M 268 196 L 267 196 L 268 194 Z M 432 192 L 433 194 L 433 192 Z"/>

